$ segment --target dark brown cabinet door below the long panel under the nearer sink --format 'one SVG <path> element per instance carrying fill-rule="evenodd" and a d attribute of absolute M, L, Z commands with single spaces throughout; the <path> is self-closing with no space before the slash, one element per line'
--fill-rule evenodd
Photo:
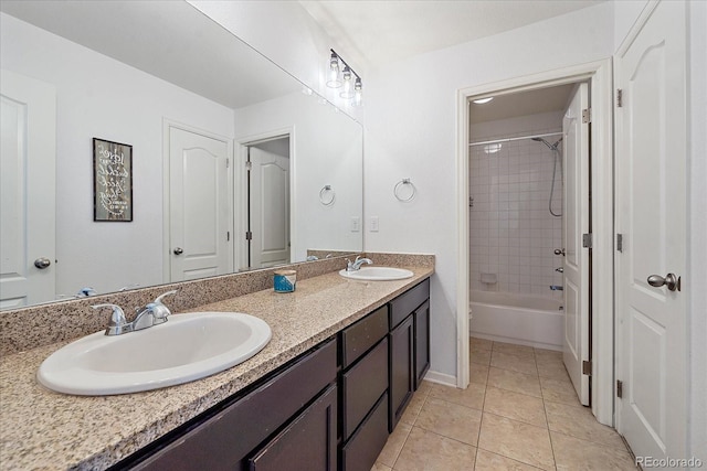
<path fill-rule="evenodd" d="M 336 386 L 249 460 L 251 471 L 336 470 Z"/>

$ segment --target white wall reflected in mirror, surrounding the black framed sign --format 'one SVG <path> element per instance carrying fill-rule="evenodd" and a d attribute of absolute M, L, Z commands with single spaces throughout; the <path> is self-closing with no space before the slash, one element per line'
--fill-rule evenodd
<path fill-rule="evenodd" d="M 13 17 L 1 21 L 2 68 L 56 87 L 56 292 L 163 282 L 162 118 L 231 137 L 233 111 Z M 94 137 L 133 144 L 131 223 L 93 221 Z"/>

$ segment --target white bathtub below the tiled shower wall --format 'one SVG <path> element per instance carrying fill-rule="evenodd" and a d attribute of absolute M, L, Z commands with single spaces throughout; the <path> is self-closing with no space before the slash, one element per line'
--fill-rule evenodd
<path fill-rule="evenodd" d="M 562 350 L 559 299 L 513 292 L 469 292 L 469 334 L 498 342 Z"/>

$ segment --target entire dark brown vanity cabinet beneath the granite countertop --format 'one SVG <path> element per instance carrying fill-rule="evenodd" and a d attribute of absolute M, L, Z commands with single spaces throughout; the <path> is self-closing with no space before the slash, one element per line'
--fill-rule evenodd
<path fill-rule="evenodd" d="M 430 367 L 430 281 L 112 470 L 368 471 Z"/>

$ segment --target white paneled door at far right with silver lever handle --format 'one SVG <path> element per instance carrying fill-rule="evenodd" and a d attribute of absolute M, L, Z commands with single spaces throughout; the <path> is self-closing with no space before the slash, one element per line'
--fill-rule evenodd
<path fill-rule="evenodd" d="M 655 459 L 686 451 L 689 285 L 648 282 L 686 268 L 686 31 L 685 2 L 661 2 L 616 57 L 618 428 Z"/>

